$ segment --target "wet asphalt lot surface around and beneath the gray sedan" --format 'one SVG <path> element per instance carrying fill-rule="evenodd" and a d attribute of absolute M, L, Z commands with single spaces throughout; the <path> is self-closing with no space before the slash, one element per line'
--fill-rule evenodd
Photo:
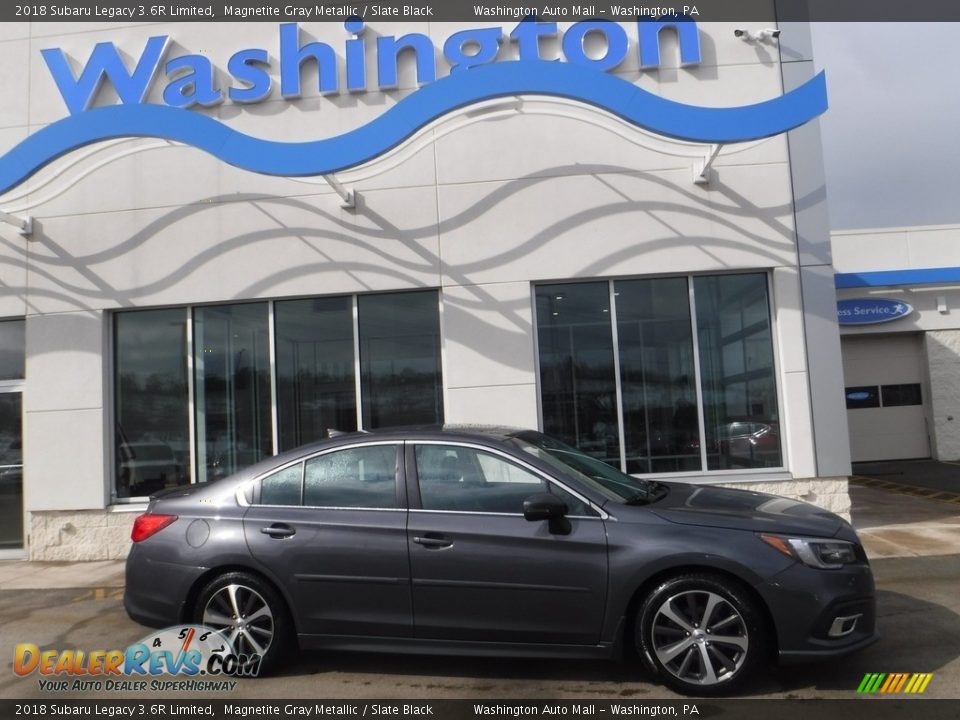
<path fill-rule="evenodd" d="M 960 555 L 879 559 L 883 639 L 846 659 L 770 668 L 743 696 L 853 698 L 865 673 L 932 672 L 925 696 L 960 698 Z M 120 649 L 150 631 L 129 620 L 118 587 L 0 590 L 0 698 L 139 699 L 197 694 L 41 690 L 13 672 L 17 643 L 41 648 Z M 359 653 L 305 653 L 272 677 L 242 679 L 207 698 L 676 698 L 637 663 L 504 660 Z"/>

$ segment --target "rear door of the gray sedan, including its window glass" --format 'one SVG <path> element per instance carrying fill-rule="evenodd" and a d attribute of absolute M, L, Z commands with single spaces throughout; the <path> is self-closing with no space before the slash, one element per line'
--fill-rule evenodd
<path fill-rule="evenodd" d="M 260 480 L 244 533 L 284 585 L 299 632 L 412 634 L 402 453 L 341 447 Z"/>

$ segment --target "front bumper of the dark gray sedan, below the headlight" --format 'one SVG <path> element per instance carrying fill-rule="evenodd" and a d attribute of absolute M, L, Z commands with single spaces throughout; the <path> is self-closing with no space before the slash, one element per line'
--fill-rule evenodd
<path fill-rule="evenodd" d="M 866 563 L 838 570 L 796 563 L 757 591 L 770 608 L 783 663 L 840 657 L 880 637 L 873 573 Z"/>

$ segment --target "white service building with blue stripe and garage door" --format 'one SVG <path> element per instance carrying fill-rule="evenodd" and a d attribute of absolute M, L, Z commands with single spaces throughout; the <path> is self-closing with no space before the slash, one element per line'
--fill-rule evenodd
<path fill-rule="evenodd" d="M 960 459 L 960 226 L 833 233 L 852 459 Z"/>

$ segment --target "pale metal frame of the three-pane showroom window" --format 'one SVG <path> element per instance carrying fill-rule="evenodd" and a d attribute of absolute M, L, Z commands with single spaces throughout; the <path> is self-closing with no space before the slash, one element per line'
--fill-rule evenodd
<path fill-rule="evenodd" d="M 697 327 L 697 303 L 694 292 L 694 280 L 700 277 L 717 277 L 717 276 L 730 276 L 730 275 L 763 275 L 766 285 L 766 295 L 767 295 L 767 311 L 769 313 L 769 323 L 770 323 L 770 343 L 772 346 L 773 353 L 773 378 L 774 385 L 776 388 L 776 398 L 777 398 L 777 416 L 778 424 L 780 427 L 779 440 L 780 440 L 780 464 L 777 466 L 769 467 L 753 467 L 753 468 L 727 468 L 719 470 L 710 470 L 707 462 L 707 447 L 704 441 L 705 433 L 705 422 L 706 417 L 704 413 L 704 397 L 703 397 L 703 378 L 700 369 L 700 338 L 699 331 Z M 779 342 L 779 323 L 777 321 L 777 304 L 776 304 L 776 294 L 774 292 L 775 288 L 773 286 L 773 272 L 769 268 L 747 268 L 747 269 L 736 269 L 736 270 L 705 270 L 703 272 L 694 272 L 694 273 L 663 273 L 656 275 L 616 275 L 610 277 L 593 277 L 593 278 L 554 278 L 546 280 L 537 280 L 530 283 L 530 307 L 532 312 L 533 320 L 533 353 L 534 353 L 534 374 L 535 374 L 535 389 L 536 389 L 536 399 L 537 399 L 537 429 L 540 432 L 544 432 L 544 422 L 543 422 L 543 386 L 542 378 L 540 373 L 540 347 L 539 347 L 539 338 L 540 338 L 540 327 L 537 320 L 537 291 L 540 288 L 550 286 L 550 285 L 574 285 L 581 283 L 607 283 L 608 291 L 611 299 L 610 304 L 610 324 L 611 331 L 613 333 L 613 356 L 614 356 L 614 384 L 617 394 L 617 418 L 618 418 L 618 435 L 620 441 L 621 454 L 624 451 L 624 422 L 623 422 L 623 405 L 622 405 L 622 378 L 620 375 L 620 366 L 619 366 L 619 338 L 617 337 L 617 312 L 616 312 L 616 283 L 630 280 L 656 280 L 660 278 L 684 278 L 687 282 L 687 293 L 689 301 L 689 314 L 690 314 L 690 326 L 693 337 L 693 361 L 694 361 L 694 375 L 695 375 L 695 389 L 696 389 L 696 400 L 697 400 L 697 416 L 698 424 L 700 430 L 700 461 L 701 469 L 700 470 L 681 470 L 678 472 L 650 472 L 650 473 L 629 473 L 631 475 L 643 478 L 653 478 L 653 479 L 662 479 L 662 480 L 679 480 L 684 481 L 687 478 L 691 478 L 689 482 L 699 482 L 710 484 L 713 482 L 722 483 L 726 482 L 729 477 L 738 477 L 738 476 L 758 476 L 758 477 L 772 477 L 776 479 L 784 478 L 787 479 L 789 475 L 790 467 L 790 445 L 789 445 L 789 433 L 787 432 L 787 418 L 784 416 L 784 390 L 783 390 L 783 372 L 782 372 L 782 361 L 781 361 L 781 348 Z M 622 472 L 626 472 L 625 465 L 623 463 L 623 458 L 621 458 L 620 469 Z"/>

